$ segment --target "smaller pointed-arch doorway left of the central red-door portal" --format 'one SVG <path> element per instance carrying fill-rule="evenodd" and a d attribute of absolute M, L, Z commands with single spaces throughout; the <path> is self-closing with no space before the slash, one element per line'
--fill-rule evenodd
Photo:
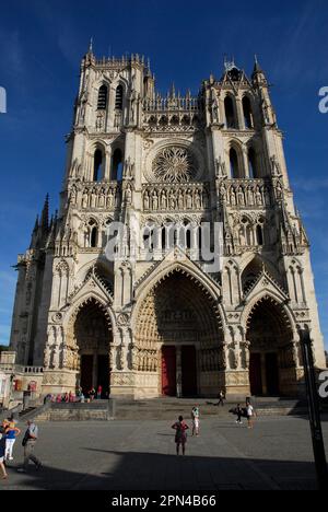
<path fill-rule="evenodd" d="M 84 394 L 102 386 L 102 398 L 109 395 L 109 347 L 113 341 L 112 324 L 107 312 L 95 299 L 79 310 L 74 322 L 74 339 L 79 347 L 80 372 L 78 384 Z"/>

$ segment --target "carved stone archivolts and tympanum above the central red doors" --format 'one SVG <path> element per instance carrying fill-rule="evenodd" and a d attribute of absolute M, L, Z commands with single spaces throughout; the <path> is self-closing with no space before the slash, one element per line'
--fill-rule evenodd
<path fill-rule="evenodd" d="M 156 371 L 157 353 L 166 342 L 194 344 L 203 371 L 218 371 L 221 357 L 221 317 L 218 305 L 199 281 L 178 269 L 163 277 L 143 300 L 134 342 L 139 371 Z"/>

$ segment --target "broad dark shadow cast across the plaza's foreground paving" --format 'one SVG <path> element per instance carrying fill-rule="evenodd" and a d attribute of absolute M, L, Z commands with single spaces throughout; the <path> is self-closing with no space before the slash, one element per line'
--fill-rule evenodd
<path fill-rule="evenodd" d="M 19 475 L 14 469 L 9 469 L 9 479 L 0 482 L 0 489 L 107 491 L 316 489 L 315 466 L 308 462 L 188 454 L 178 457 L 174 453 L 119 452 L 90 447 L 80 450 L 85 451 L 86 461 L 85 467 L 81 467 L 80 472 L 44 466 L 39 472 L 31 467 L 26 475 Z M 89 452 L 103 454 L 98 467 L 87 467 Z"/>

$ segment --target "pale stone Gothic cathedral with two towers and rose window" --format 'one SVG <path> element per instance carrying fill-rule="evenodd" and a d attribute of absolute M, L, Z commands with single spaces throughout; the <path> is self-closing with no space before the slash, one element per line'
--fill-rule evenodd
<path fill-rule="evenodd" d="M 49 219 L 47 197 L 16 270 L 1 368 L 40 396 L 297 396 L 300 329 L 326 368 L 309 242 L 257 59 L 251 74 L 225 61 L 196 96 L 162 95 L 143 57 L 98 60 L 91 46 L 60 208 Z"/>

